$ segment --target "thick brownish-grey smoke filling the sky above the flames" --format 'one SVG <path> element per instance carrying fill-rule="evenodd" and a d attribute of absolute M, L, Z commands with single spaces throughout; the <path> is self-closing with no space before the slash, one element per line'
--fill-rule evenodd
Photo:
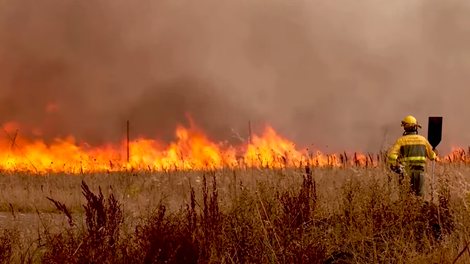
<path fill-rule="evenodd" d="M 214 140 L 251 121 L 377 151 L 441 115 L 446 151 L 470 143 L 469 52 L 465 0 L 2 1 L 0 123 L 98 144 L 128 119 L 170 140 L 190 113 Z"/>

